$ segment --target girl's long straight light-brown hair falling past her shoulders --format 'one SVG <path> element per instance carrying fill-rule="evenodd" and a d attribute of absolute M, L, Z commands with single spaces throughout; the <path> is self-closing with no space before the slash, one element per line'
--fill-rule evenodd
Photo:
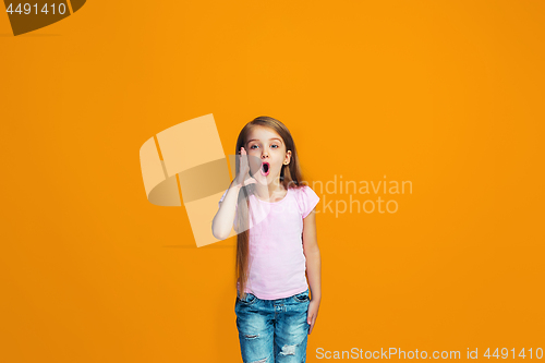
<path fill-rule="evenodd" d="M 241 147 L 246 149 L 246 142 L 250 132 L 255 126 L 265 126 L 275 131 L 283 141 L 286 145 L 286 152 L 291 150 L 291 159 L 289 165 L 282 165 L 282 170 L 280 171 L 280 182 L 288 190 L 289 187 L 298 189 L 303 186 L 302 181 L 302 172 L 299 164 L 298 152 L 295 149 L 295 143 L 293 142 L 293 137 L 291 137 L 291 133 L 286 128 L 283 123 L 280 121 L 262 116 L 253 121 L 246 123 L 246 125 L 242 129 L 239 134 L 239 138 L 237 140 L 235 155 L 239 156 L 239 152 Z M 240 158 L 235 157 L 235 172 L 239 174 L 240 170 Z M 246 186 L 242 186 L 239 193 L 238 201 L 238 221 L 239 226 L 237 226 L 237 230 L 243 230 L 243 232 L 237 234 L 237 264 L 235 264 L 235 275 L 237 281 L 239 281 L 239 290 L 241 293 L 241 299 L 244 299 L 245 292 L 244 288 L 246 287 L 247 277 L 249 277 L 249 210 L 250 210 L 250 198 L 249 196 L 254 194 L 255 189 L 254 184 L 249 184 Z"/>

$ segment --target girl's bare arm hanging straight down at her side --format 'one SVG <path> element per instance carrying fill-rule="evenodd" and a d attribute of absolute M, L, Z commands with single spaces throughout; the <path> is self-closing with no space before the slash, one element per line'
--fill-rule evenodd
<path fill-rule="evenodd" d="M 316 209 L 313 209 L 303 219 L 303 252 L 306 257 L 306 276 L 311 286 L 311 304 L 308 305 L 307 323 L 311 325 L 308 334 L 314 328 L 322 301 L 322 258 L 319 256 L 318 240 L 316 237 Z"/>

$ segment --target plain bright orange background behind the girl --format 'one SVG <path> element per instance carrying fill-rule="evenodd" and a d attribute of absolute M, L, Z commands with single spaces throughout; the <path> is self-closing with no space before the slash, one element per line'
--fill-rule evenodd
<path fill-rule="evenodd" d="M 235 239 L 196 249 L 140 170 L 207 113 L 226 154 L 265 114 L 307 180 L 413 183 L 396 214 L 318 214 L 307 361 L 545 348 L 544 24 L 542 1 L 95 0 L 19 37 L 0 15 L 0 360 L 241 361 Z"/>

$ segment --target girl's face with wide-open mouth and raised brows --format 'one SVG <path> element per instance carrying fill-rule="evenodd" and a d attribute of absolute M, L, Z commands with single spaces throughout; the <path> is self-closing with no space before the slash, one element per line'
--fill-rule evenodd
<path fill-rule="evenodd" d="M 282 137 L 269 128 L 252 128 L 244 148 L 251 156 L 250 173 L 264 185 L 280 178 L 284 162 L 291 160 L 291 150 L 286 150 Z"/>

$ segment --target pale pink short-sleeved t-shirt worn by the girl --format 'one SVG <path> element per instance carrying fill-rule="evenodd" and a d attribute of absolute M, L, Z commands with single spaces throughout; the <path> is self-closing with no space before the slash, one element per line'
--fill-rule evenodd
<path fill-rule="evenodd" d="M 226 194 L 227 191 L 219 203 Z M 276 300 L 308 289 L 303 218 L 318 201 L 307 185 L 288 189 L 283 199 L 275 203 L 250 196 L 250 276 L 245 292 L 262 300 Z"/>

